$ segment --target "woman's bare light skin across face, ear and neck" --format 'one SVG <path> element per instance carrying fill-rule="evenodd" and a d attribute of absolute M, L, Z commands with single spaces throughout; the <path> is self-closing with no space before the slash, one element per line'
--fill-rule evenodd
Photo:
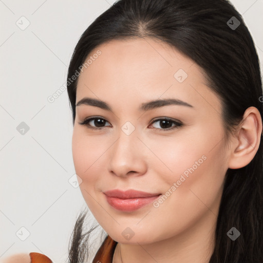
<path fill-rule="evenodd" d="M 245 122 L 226 143 L 221 101 L 190 58 L 149 38 L 110 41 L 89 56 L 97 50 L 102 52 L 99 58 L 80 74 L 76 102 L 100 99 L 112 111 L 76 107 L 72 155 L 89 209 L 118 242 L 113 262 L 209 262 L 224 176 L 228 168 L 243 167 L 255 156 L 262 133 L 259 111 L 248 108 Z M 182 83 L 174 78 L 178 69 L 188 74 Z M 193 108 L 138 110 L 141 103 L 167 98 Z M 106 119 L 103 129 L 79 124 L 93 116 Z M 153 122 L 161 117 L 179 120 L 183 126 L 164 131 L 160 121 Z M 130 135 L 121 129 L 127 121 L 135 127 Z M 89 125 L 99 127 L 94 121 Z M 206 159 L 158 208 L 152 203 L 134 212 L 118 211 L 103 194 L 135 189 L 165 195 L 202 156 Z M 127 227 L 134 232 L 129 240 L 122 235 Z"/>

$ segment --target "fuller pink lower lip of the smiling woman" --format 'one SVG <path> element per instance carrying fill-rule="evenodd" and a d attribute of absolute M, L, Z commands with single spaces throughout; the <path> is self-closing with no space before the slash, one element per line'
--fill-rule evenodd
<path fill-rule="evenodd" d="M 120 199 L 116 197 L 108 197 L 106 199 L 108 203 L 117 210 L 131 212 L 135 211 L 142 206 L 152 203 L 158 196 L 145 197 L 145 198 L 130 198 L 130 199 Z"/>

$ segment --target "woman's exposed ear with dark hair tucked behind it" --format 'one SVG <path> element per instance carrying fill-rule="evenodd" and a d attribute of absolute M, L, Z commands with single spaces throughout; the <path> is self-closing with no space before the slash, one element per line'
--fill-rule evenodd
<path fill-rule="evenodd" d="M 259 147 L 262 136 L 262 119 L 256 107 L 249 107 L 243 114 L 243 122 L 238 127 L 232 143 L 229 168 L 238 169 L 249 164 Z"/>

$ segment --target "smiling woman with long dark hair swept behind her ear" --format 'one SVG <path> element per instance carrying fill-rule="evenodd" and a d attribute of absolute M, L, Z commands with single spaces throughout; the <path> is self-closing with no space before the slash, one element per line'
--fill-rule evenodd
<path fill-rule="evenodd" d="M 92 262 L 263 262 L 261 76 L 228 1 L 116 2 L 82 34 L 67 91 L 80 189 L 107 234 Z M 85 215 L 71 263 L 90 257 Z"/>

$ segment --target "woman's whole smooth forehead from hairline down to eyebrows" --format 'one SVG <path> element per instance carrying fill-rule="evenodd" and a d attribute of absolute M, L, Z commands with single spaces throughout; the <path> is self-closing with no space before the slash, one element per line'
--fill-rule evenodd
<path fill-rule="evenodd" d="M 220 112 L 219 98 L 206 86 L 202 69 L 160 40 L 112 40 L 93 49 L 88 60 L 79 76 L 76 102 L 85 96 L 126 102 L 173 97 L 195 107 L 206 101 Z"/>

